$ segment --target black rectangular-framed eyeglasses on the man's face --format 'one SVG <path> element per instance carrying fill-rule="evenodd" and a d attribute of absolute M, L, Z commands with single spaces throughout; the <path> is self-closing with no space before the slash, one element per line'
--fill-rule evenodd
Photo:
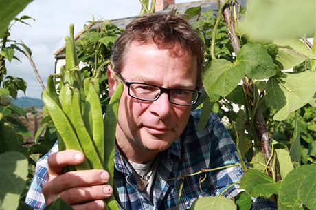
<path fill-rule="evenodd" d="M 167 93 L 170 103 L 190 106 L 198 100 L 199 90 L 163 88 L 146 83 L 129 83 L 123 76 L 115 71 L 118 78 L 128 87 L 128 95 L 142 101 L 156 101 L 162 93 Z"/>

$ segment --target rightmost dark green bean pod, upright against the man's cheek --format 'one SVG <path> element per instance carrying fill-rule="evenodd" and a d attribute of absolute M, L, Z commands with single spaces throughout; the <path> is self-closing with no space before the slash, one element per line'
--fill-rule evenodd
<path fill-rule="evenodd" d="M 115 132 L 116 132 L 116 125 L 117 125 L 117 115 L 118 115 L 118 108 L 120 104 L 120 98 L 122 96 L 123 92 L 123 84 L 120 83 L 117 86 L 117 89 L 115 90 L 113 96 L 110 99 L 108 107 L 106 107 L 106 114 L 104 118 L 104 142 L 106 144 L 106 147 L 104 148 L 104 169 L 106 171 L 109 171 L 110 174 L 110 180 L 109 185 L 114 185 L 113 175 L 114 175 L 114 156 L 115 156 Z M 118 196 L 118 192 L 116 187 L 113 187 L 113 196 L 116 198 L 116 200 L 120 201 L 120 197 Z M 109 205 L 110 209 L 117 209 L 117 204 L 113 202 L 115 200 L 111 196 L 111 200 L 109 200 L 109 203 L 106 202 L 107 205 Z M 108 199 L 107 199 L 108 200 Z M 106 200 L 106 201 L 107 201 Z"/>

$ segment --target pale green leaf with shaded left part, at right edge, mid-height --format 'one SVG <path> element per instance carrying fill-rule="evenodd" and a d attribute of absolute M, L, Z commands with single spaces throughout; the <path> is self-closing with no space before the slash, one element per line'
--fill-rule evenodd
<path fill-rule="evenodd" d="M 270 78 L 267 83 L 266 103 L 277 110 L 274 120 L 285 120 L 311 101 L 316 92 L 316 72 L 284 73 L 282 78 Z"/>

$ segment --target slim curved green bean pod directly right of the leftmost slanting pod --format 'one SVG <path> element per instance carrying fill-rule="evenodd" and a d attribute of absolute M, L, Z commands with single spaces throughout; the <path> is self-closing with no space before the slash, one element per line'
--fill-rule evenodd
<path fill-rule="evenodd" d="M 73 125 L 76 128 L 78 140 L 80 145 L 82 145 L 84 155 L 86 156 L 91 169 L 103 169 L 103 160 L 100 160 L 98 154 L 96 153 L 95 145 L 84 126 L 81 112 L 80 92 L 76 88 L 74 89 L 72 98 L 72 112 L 74 117 Z"/>

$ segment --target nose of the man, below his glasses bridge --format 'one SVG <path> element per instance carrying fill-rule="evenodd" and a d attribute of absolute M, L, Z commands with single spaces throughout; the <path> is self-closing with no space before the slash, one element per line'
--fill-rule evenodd
<path fill-rule="evenodd" d="M 169 101 L 168 94 L 161 93 L 156 101 L 150 105 L 150 112 L 159 117 L 159 119 L 167 118 L 172 111 L 172 103 Z"/>

